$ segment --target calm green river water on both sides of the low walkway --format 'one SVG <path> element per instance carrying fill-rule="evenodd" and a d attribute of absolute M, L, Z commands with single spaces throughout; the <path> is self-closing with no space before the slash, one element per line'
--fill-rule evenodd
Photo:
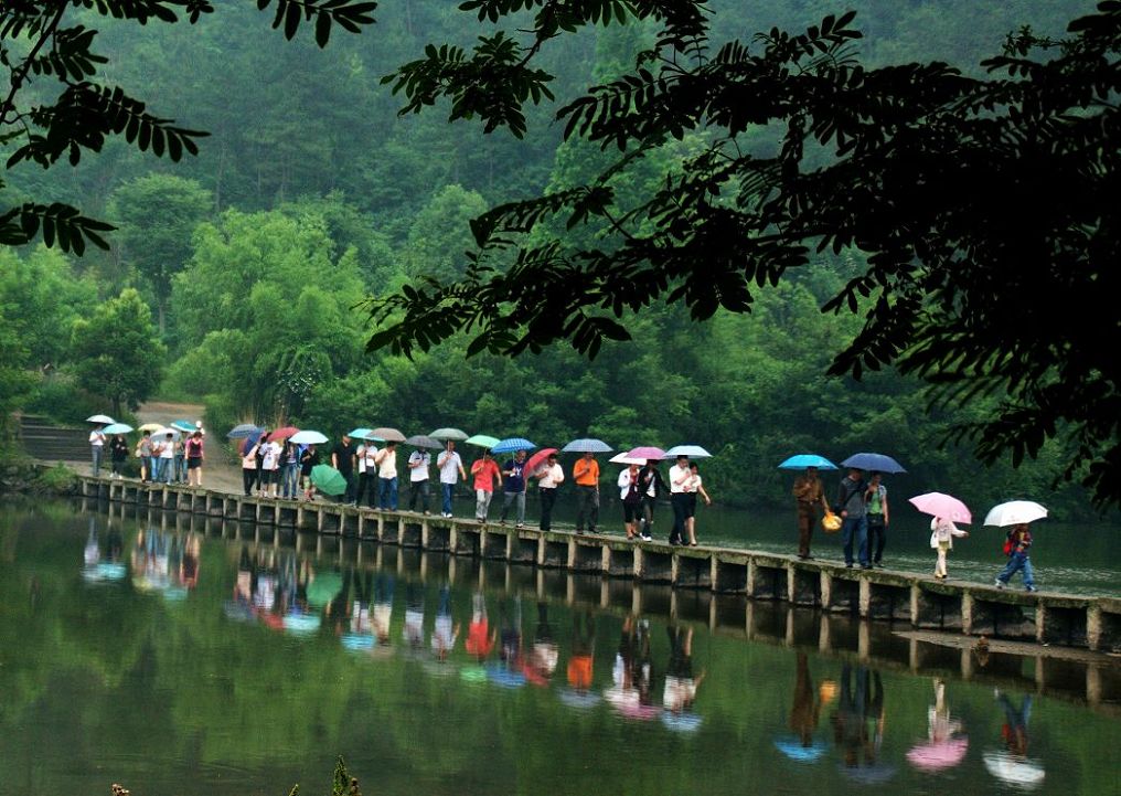
<path fill-rule="evenodd" d="M 0 511 L 0 793 L 319 794 L 342 755 L 392 796 L 1121 794 L 1121 705 L 1087 705 L 1084 668 L 966 681 L 930 645 L 915 673 L 887 626 L 862 659 L 847 620 L 835 648 L 785 640 L 812 611 L 756 603 L 777 630 L 749 640 L 698 621 L 706 595 L 117 512 Z M 1043 548 L 1040 579 L 1118 593 L 1115 542 Z"/>

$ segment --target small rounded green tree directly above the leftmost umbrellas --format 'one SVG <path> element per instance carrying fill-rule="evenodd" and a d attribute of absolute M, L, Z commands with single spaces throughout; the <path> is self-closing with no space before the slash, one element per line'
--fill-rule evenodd
<path fill-rule="evenodd" d="M 156 337 L 151 309 L 136 288 L 126 288 L 74 322 L 71 358 L 83 389 L 108 400 L 113 414 L 136 410 L 164 377 L 167 349 Z"/>

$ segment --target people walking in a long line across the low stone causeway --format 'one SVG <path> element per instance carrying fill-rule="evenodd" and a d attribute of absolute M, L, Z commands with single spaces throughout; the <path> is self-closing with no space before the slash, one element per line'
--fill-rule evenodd
<path fill-rule="evenodd" d="M 145 432 L 137 443 L 135 455 L 140 460 L 141 479 L 159 483 L 187 483 L 202 485 L 202 464 L 205 460 L 204 432 L 196 428 L 186 439 L 177 433 L 167 432 L 161 438 L 154 438 Z M 248 441 L 247 441 L 248 442 Z M 93 448 L 93 472 L 99 474 L 102 451 L 106 438 L 102 427 L 90 434 Z M 121 478 L 123 462 L 129 447 L 124 437 L 112 435 L 108 441 L 112 462 L 112 476 Z M 501 464 L 490 450 L 464 466 L 454 439 L 444 443 L 436 456 L 436 471 L 441 490 L 441 516 L 453 516 L 453 500 L 457 484 L 467 481 L 474 492 L 474 518 L 487 522 L 491 501 L 498 490 L 502 492 L 499 524 L 513 519 L 516 527 L 526 524 L 526 496 L 531 482 L 536 482 L 540 499 L 538 527 L 550 530 L 557 492 L 566 480 L 556 453 L 544 461 L 530 465 L 528 451 L 518 450 Z M 430 515 L 432 453 L 416 447 L 405 460 L 408 473 L 408 510 Z M 247 497 L 257 494 L 274 499 L 314 500 L 316 483 L 313 471 L 322 461 L 314 444 L 296 444 L 291 439 L 270 438 L 268 432 L 241 450 L 242 487 Z M 352 506 L 396 511 L 399 506 L 398 443 L 385 442 L 382 447 L 369 439 L 352 439 L 343 434 L 330 454 L 331 466 L 339 472 L 345 484 L 341 499 Z M 593 453 L 584 453 L 572 468 L 572 480 L 576 493 L 576 534 L 585 529 L 595 534 L 600 526 L 600 463 Z M 647 460 L 643 464 L 629 463 L 615 482 L 622 506 L 622 525 L 628 539 L 650 542 L 654 539 L 654 521 L 659 501 L 669 499 L 673 510 L 668 542 L 670 545 L 696 546 L 696 509 L 700 499 L 706 505 L 712 499 L 704 489 L 704 482 L 696 462 L 686 455 L 678 455 L 663 476 L 658 460 Z M 859 564 L 871 570 L 883 566 L 888 528 L 891 521 L 888 490 L 879 472 L 865 478 L 859 468 L 849 468 L 837 487 L 836 498 L 831 505 L 825 497 L 825 487 L 818 470 L 808 466 L 794 482 L 793 493 L 797 505 L 798 557 L 809 559 L 814 528 L 823 515 L 835 512 L 841 518 L 841 536 L 846 567 Z M 946 580 L 947 555 L 953 549 L 955 538 L 969 536 L 969 531 L 957 528 L 944 517 L 930 521 L 930 547 L 937 558 L 934 576 Z M 1031 531 L 1028 525 L 1019 524 L 1008 531 L 1006 553 L 1008 565 L 995 580 L 998 587 L 1006 587 L 1016 573 L 1021 573 L 1025 587 L 1036 591 L 1034 572 L 1028 549 L 1031 547 Z"/>

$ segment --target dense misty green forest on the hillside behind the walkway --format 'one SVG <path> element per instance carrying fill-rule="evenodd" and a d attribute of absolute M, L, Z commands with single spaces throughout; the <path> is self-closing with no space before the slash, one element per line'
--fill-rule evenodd
<path fill-rule="evenodd" d="M 1088 0 L 908 0 L 850 3 L 870 64 L 944 59 L 965 71 L 1030 24 L 1059 35 Z M 844 10 L 823 0 L 712 3 L 713 38 L 750 41 L 772 26 L 800 30 Z M 467 222 L 506 201 L 559 191 L 605 163 L 596 148 L 560 144 L 554 107 L 535 110 L 525 140 L 448 124 L 439 112 L 398 117 L 381 77 L 435 41 L 470 43 L 454 3 L 407 0 L 378 25 L 285 41 L 251 3 L 226 3 L 189 30 L 114 27 L 90 15 L 110 57 L 106 78 L 142 91 L 154 110 L 210 131 L 197 158 L 168 164 L 111 142 L 80 168 L 8 174 L 12 201 L 72 202 L 119 229 L 108 253 L 74 259 L 41 247 L 0 250 L 0 407 L 75 422 L 160 397 L 203 400 L 211 428 L 290 420 L 337 434 L 355 425 L 406 433 L 455 425 L 541 444 L 596 436 L 618 448 L 697 443 L 716 456 L 706 481 L 723 500 L 781 502 L 775 465 L 791 453 L 841 459 L 874 450 L 899 459 L 915 491 L 979 501 L 1032 497 L 1067 518 L 1082 490 L 1051 489 L 1066 461 L 1058 443 L 1037 461 L 984 469 L 943 445 L 978 419 L 967 406 L 929 404 L 917 380 L 874 372 L 824 376 L 860 318 L 823 314 L 861 266 L 859 252 L 823 253 L 763 290 L 749 315 L 689 321 L 654 306 L 589 363 L 569 348 L 516 360 L 465 359 L 466 340 L 415 360 L 368 353 L 362 303 L 419 277 L 463 272 Z M 543 53 L 571 96 L 629 67 L 649 30 L 612 26 L 565 36 Z M 659 179 L 703 144 L 663 148 Z M 628 191 L 615 186 L 626 204 Z M 583 246 L 602 233 L 572 231 Z M 123 341 L 130 341 L 128 343 Z M 1084 516 L 1084 515 L 1081 515 Z"/>

